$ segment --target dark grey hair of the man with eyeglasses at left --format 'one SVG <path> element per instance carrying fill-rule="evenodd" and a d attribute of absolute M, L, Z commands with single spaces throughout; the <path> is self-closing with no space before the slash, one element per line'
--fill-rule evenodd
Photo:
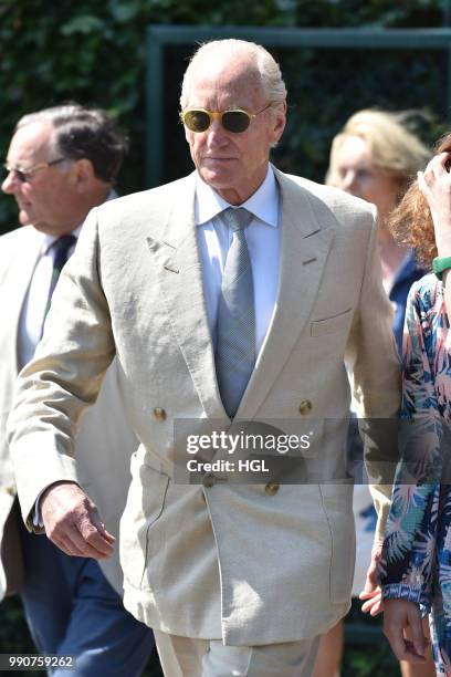
<path fill-rule="evenodd" d="M 64 159 L 88 159 L 98 179 L 115 181 L 128 150 L 128 139 L 105 111 L 67 103 L 24 115 L 15 131 L 36 122 L 52 125 L 54 150 Z"/>

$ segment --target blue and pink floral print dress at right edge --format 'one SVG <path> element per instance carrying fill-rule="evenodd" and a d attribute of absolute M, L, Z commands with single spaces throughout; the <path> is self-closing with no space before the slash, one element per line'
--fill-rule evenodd
<path fill-rule="evenodd" d="M 401 430 L 410 426 L 410 441 L 401 454 L 410 483 L 399 464 L 380 563 L 382 596 L 430 613 L 437 674 L 451 677 L 451 332 L 436 275 L 413 284 L 405 332 Z"/>

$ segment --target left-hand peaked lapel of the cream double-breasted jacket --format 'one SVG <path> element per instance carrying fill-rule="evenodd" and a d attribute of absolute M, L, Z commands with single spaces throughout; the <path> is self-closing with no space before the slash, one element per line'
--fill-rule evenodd
<path fill-rule="evenodd" d="M 177 342 L 209 418 L 227 418 L 216 377 L 195 223 L 195 174 L 182 184 L 158 240 L 148 238 Z M 188 209 L 187 209 L 187 206 Z"/>

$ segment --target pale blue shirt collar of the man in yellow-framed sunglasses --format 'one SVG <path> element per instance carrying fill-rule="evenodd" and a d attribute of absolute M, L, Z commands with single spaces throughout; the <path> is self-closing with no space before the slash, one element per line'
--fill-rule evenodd
<path fill-rule="evenodd" d="M 199 176 L 196 177 L 196 226 L 211 221 L 224 209 L 231 207 L 211 186 Z M 275 183 L 274 170 L 270 164 L 263 184 L 251 197 L 240 205 L 254 217 L 277 228 L 279 226 L 279 190 Z"/>

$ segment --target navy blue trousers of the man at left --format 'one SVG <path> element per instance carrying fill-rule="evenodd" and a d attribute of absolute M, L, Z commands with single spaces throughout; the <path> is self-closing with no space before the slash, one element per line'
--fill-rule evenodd
<path fill-rule="evenodd" d="M 21 591 L 36 648 L 73 655 L 73 677 L 137 677 L 154 649 L 153 632 L 136 621 L 98 563 L 64 554 L 21 525 L 25 584 Z M 51 670 L 67 677 L 66 670 Z"/>

